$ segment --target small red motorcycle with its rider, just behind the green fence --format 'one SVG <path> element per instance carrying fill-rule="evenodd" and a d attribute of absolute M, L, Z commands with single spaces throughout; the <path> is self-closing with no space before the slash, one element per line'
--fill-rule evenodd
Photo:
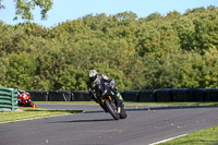
<path fill-rule="evenodd" d="M 36 107 L 35 104 L 32 101 L 31 95 L 26 92 L 19 92 L 17 104 L 20 107 Z"/>

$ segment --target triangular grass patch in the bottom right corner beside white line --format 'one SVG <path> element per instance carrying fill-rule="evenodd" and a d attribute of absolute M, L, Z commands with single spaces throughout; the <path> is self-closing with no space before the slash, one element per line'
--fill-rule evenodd
<path fill-rule="evenodd" d="M 159 145 L 215 145 L 218 144 L 218 125 L 192 132 Z"/>

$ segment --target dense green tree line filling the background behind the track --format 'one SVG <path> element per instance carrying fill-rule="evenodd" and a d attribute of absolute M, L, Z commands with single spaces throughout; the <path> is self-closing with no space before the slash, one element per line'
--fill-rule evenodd
<path fill-rule="evenodd" d="M 218 8 L 88 14 L 49 28 L 0 21 L 0 50 L 3 87 L 86 90 L 95 69 L 120 90 L 218 88 Z"/>

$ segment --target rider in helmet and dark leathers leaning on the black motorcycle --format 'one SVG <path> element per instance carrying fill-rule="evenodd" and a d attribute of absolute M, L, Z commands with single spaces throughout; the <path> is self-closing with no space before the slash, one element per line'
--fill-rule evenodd
<path fill-rule="evenodd" d="M 117 100 L 118 108 L 124 107 L 122 96 L 118 92 L 118 87 L 114 85 L 114 81 L 112 78 L 109 78 L 105 74 L 98 74 L 96 70 L 90 70 L 88 72 L 88 77 L 89 81 L 87 82 L 87 89 L 92 99 L 94 99 L 93 95 L 95 94 L 95 86 L 99 83 L 99 81 L 104 81 L 114 93 L 112 97 Z"/>

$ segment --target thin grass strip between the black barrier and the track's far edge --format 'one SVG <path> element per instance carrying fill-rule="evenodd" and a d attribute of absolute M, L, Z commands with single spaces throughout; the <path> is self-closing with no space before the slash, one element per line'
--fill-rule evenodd
<path fill-rule="evenodd" d="M 34 101 L 37 104 L 66 104 L 66 105 L 73 105 L 73 104 L 81 104 L 81 105 L 97 105 L 95 101 Z M 132 102 L 132 101 L 124 101 L 124 105 L 162 105 L 162 106 L 218 106 L 217 101 L 214 102 Z M 37 106 L 36 106 L 37 107 Z"/>

